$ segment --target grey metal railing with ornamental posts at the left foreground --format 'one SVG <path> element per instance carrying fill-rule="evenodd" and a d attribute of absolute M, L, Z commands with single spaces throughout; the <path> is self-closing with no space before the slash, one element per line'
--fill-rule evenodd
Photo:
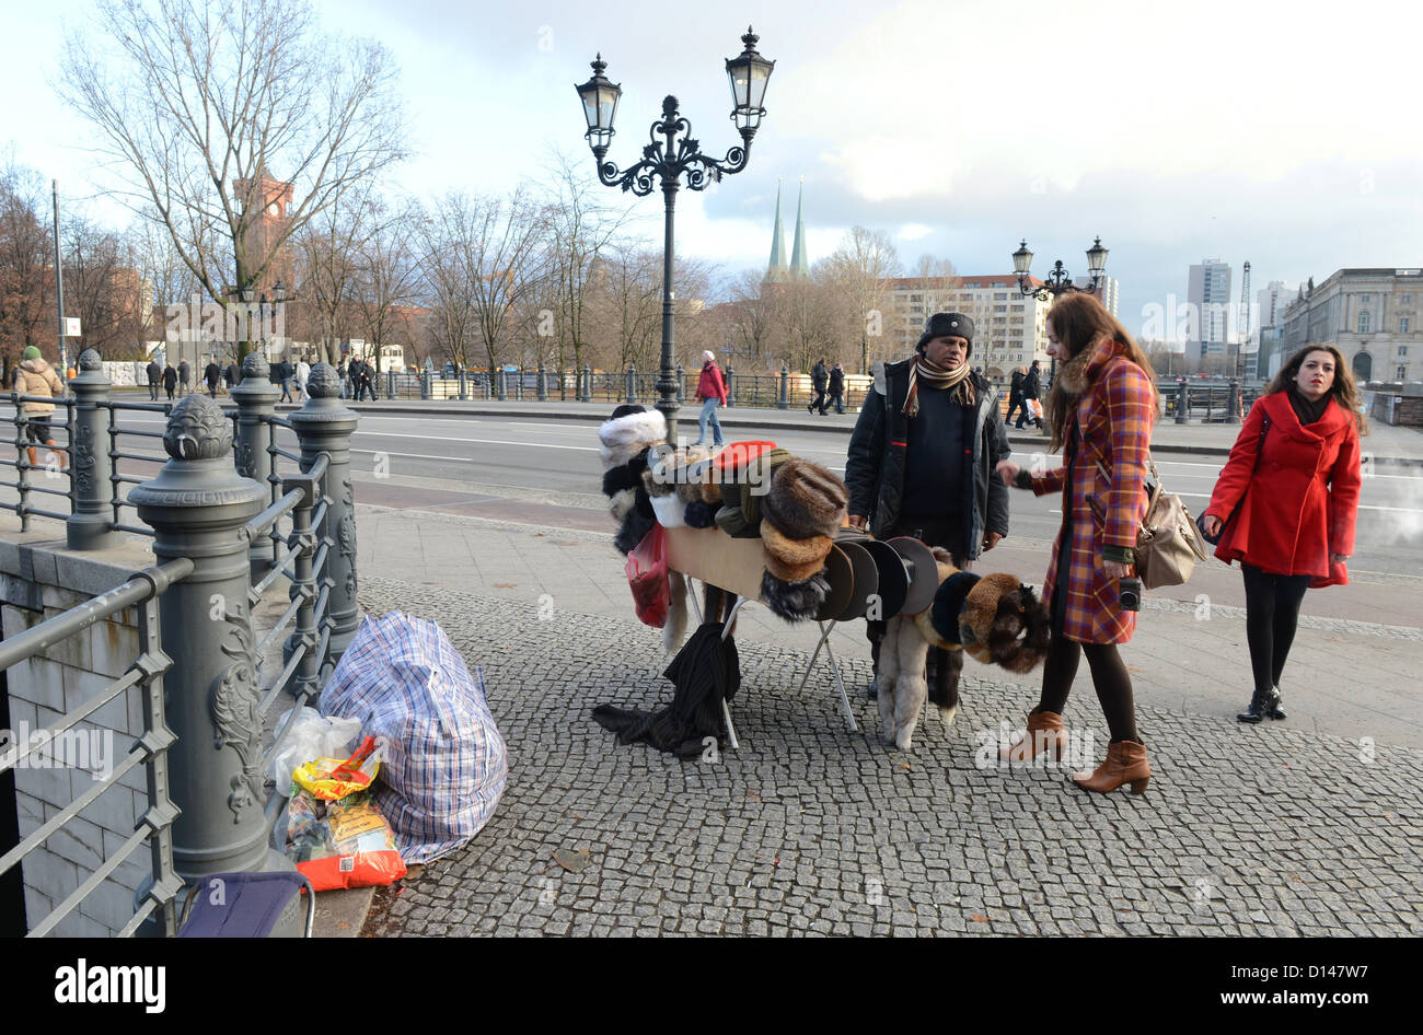
<path fill-rule="evenodd" d="M 142 648 L 128 672 L 63 717 L 51 732 L 63 734 L 139 687 L 145 695 L 144 732 L 120 769 L 128 772 L 141 763 L 151 768 L 145 826 L 48 917 L 33 924 L 30 934 L 53 931 L 144 840 L 151 840 L 155 853 L 152 873 L 138 914 L 121 934 L 132 934 L 151 914 L 161 933 L 172 934 L 171 904 L 184 883 L 221 870 L 272 866 L 266 844 L 283 796 L 268 793 L 262 773 L 282 749 L 296 708 L 265 749 L 263 729 L 272 725 L 279 702 L 302 705 L 320 692 L 360 617 L 350 488 L 350 435 L 359 418 L 336 398 L 340 381 L 326 364 L 313 370 L 306 405 L 286 418 L 276 417 L 272 408 L 277 387 L 269 384 L 265 367 L 260 355 L 248 357 L 243 382 L 232 394 L 236 408 L 223 412 L 202 395 L 176 404 L 115 402 L 108 398 L 110 384 L 100 372 L 98 357 L 85 353 L 80 360 L 83 372 L 70 382 L 75 395 L 53 401 L 70 414 L 57 427 L 74 429 L 73 446 L 58 446 L 75 459 L 68 492 L 53 490 L 70 496 L 67 515 L 28 502 L 28 493 L 40 488 L 27 481 L 37 465 L 24 452 L 24 414 L 16 409 L 21 454 L 10 462 L 17 478 L 9 485 L 17 489 L 20 502 L 0 506 L 13 509 L 26 527 L 34 513 L 65 520 L 68 545 L 77 549 L 114 546 L 122 542 L 121 533 L 148 536 L 159 562 L 124 586 L 0 644 L 3 670 L 139 606 Z M 26 397 L 13 399 L 26 402 Z M 166 427 L 162 432 L 121 427 L 125 411 L 164 414 Z M 290 431 L 300 451 L 280 446 L 279 431 Z M 138 452 L 122 442 L 124 435 L 157 438 L 165 454 Z M 229 459 L 229 463 L 212 463 Z M 165 465 L 154 478 L 120 471 L 121 463 L 155 461 Z M 48 466 L 50 476 L 58 476 L 53 461 Z M 121 508 L 137 510 L 138 523 L 122 520 Z M 248 563 L 233 564 L 239 556 Z M 253 608 L 283 576 L 289 580 L 289 603 L 258 638 Z M 205 613 L 208 623 L 194 617 Z M 268 658 L 279 643 L 280 665 Z M 165 715 L 161 675 L 169 668 L 175 678 Z M 191 688 L 202 688 L 201 701 L 174 697 Z M 209 688 L 215 688 L 211 702 Z M 169 717 L 172 734 L 165 725 Z M 213 744 L 235 751 L 213 752 Z M 171 789 L 165 752 L 175 756 L 174 772 L 186 778 Z M 23 749 L 7 752 L 0 758 L 0 772 L 24 756 Z M 6 852 L 0 873 L 78 816 L 98 793 L 75 799 Z M 260 809 L 248 808 L 258 802 L 265 802 Z M 279 864 L 287 863 L 279 859 Z"/>

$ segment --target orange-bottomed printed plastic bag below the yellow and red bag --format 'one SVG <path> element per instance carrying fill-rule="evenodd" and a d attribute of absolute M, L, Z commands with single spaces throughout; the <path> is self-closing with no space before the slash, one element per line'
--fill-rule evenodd
<path fill-rule="evenodd" d="M 324 802 L 306 790 L 287 806 L 286 854 L 317 891 L 379 887 L 406 876 L 406 863 L 369 790 Z"/>

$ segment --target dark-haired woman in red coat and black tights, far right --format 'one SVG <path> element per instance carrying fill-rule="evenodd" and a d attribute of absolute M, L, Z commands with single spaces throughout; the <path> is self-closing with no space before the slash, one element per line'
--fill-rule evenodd
<path fill-rule="evenodd" d="M 1359 510 L 1359 392 L 1333 345 L 1305 345 L 1249 409 L 1201 518 L 1245 573 L 1255 691 L 1241 722 L 1285 718 L 1279 674 L 1305 590 L 1345 586 Z M 1224 533 L 1221 529 L 1224 527 Z"/>

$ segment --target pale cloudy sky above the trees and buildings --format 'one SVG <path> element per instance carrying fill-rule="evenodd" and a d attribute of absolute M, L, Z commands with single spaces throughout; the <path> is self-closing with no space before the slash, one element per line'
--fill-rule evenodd
<path fill-rule="evenodd" d="M 0 0 L 13 48 L 0 148 L 65 193 L 102 181 L 90 131 L 54 98 L 67 28 L 90 0 Z M 1100 235 L 1140 331 L 1185 296 L 1187 267 L 1251 262 L 1254 287 L 1340 266 L 1423 266 L 1423 145 L 1413 4 L 1198 0 L 1155 6 L 474 3 L 316 0 L 333 33 L 383 40 L 401 68 L 417 156 L 401 186 L 505 191 L 552 148 L 579 156 L 573 84 L 595 51 L 623 87 L 610 158 L 636 161 L 665 94 L 709 152 L 737 142 L 724 58 L 753 23 L 776 60 L 750 168 L 683 192 L 677 246 L 733 273 L 764 267 L 776 186 L 805 182 L 811 260 L 852 225 L 961 273 L 1086 272 Z M 340 60 L 333 47 L 332 60 Z M 612 192 L 609 192 L 612 193 Z M 660 196 L 640 227 L 660 240 Z M 787 240 L 787 245 L 790 242 Z"/>

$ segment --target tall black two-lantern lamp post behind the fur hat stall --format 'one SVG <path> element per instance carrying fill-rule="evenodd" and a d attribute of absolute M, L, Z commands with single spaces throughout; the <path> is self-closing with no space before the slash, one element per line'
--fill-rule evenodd
<path fill-rule="evenodd" d="M 652 193 L 656 186 L 653 178 L 660 181 L 666 220 L 662 256 L 662 370 L 657 374 L 657 409 L 667 418 L 669 444 L 676 442 L 677 434 L 677 372 L 672 355 L 672 303 L 676 299 L 672 287 L 675 253 L 672 223 L 679 181 L 682 173 L 686 173 L 687 188 L 704 191 L 709 183 L 720 182 L 721 176 L 741 172 L 746 168 L 751 152 L 751 138 L 761 124 L 761 117 L 766 115 L 766 108 L 761 107 L 761 101 L 766 100 L 766 84 L 776 67 L 774 61 L 767 61 L 756 53 L 757 38 L 751 27 L 747 26 L 746 36 L 741 37 L 744 50 L 740 55 L 726 61 L 726 74 L 731 82 L 731 121 L 736 122 L 737 132 L 741 134 L 741 146 L 731 148 L 720 161 L 702 154 L 699 141 L 689 135 L 692 125 L 677 114 L 677 98 L 667 95 L 662 101 L 662 118 L 652 124 L 652 144 L 642 149 L 642 161 L 626 171 L 619 171 L 613 162 L 603 159 L 613 138 L 613 115 L 618 111 L 622 87 L 603 75 L 608 64 L 602 54 L 592 63 L 592 78 L 576 87 L 583 102 L 583 115 L 588 119 L 588 132 L 583 136 L 598 162 L 598 179 L 608 186 L 632 191 L 639 198 Z M 682 139 L 675 142 L 679 134 Z M 666 139 L 657 139 L 659 135 Z"/>

